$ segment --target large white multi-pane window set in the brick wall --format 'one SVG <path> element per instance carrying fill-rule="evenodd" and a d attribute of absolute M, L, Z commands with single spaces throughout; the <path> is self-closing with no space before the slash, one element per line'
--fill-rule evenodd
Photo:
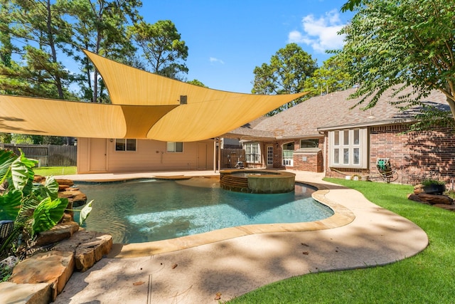
<path fill-rule="evenodd" d="M 328 132 L 330 165 L 366 168 L 368 165 L 368 132 L 366 129 Z"/>

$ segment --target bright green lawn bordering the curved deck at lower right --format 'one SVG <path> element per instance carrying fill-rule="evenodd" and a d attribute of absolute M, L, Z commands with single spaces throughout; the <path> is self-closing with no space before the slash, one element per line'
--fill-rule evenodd
<path fill-rule="evenodd" d="M 410 219 L 427 233 L 428 248 L 387 266 L 289 278 L 229 303 L 454 303 L 455 212 L 410 201 L 412 187 L 407 185 L 325 180 L 356 189 Z"/>

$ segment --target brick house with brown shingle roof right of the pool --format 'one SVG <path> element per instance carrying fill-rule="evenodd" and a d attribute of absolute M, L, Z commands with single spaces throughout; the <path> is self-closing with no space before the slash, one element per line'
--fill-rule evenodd
<path fill-rule="evenodd" d="M 387 93 L 370 110 L 352 108 L 358 100 L 348 96 L 354 90 L 310 98 L 255 127 L 240 127 L 226 136 L 240 139 L 250 166 L 373 179 L 379 178 L 377 159 L 386 157 L 397 170 L 397 182 L 412 184 L 434 172 L 437 178 L 451 182 L 455 177 L 452 128 L 406 132 L 419 108 L 402 112 L 390 105 L 396 98 Z M 439 91 L 425 100 L 449 111 L 446 97 Z"/>

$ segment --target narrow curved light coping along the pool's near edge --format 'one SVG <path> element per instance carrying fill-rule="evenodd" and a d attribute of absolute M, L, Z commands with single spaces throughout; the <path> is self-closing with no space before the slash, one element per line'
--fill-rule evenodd
<path fill-rule="evenodd" d="M 172 177 L 156 178 L 172 179 Z M 144 243 L 114 243 L 112 246 L 112 251 L 107 255 L 107 257 L 137 258 L 141 256 L 151 256 L 159 253 L 180 251 L 186 248 L 201 246 L 208 243 L 226 241 L 228 239 L 234 239 L 241 236 L 249 236 L 252 234 L 333 229 L 345 226 L 355 219 L 355 215 L 352 211 L 350 211 L 345 206 L 336 203 L 335 201 L 331 201 L 326 197 L 326 194 L 328 194 L 330 190 L 323 184 L 315 184 L 299 180 L 296 180 L 296 182 L 316 188 L 316 192 L 312 194 L 313 199 L 332 209 L 333 215 L 319 221 L 242 225 L 208 231 L 203 234 L 193 234 L 191 236 L 181 236 L 175 239 L 166 239 L 161 241 L 151 241 Z"/>

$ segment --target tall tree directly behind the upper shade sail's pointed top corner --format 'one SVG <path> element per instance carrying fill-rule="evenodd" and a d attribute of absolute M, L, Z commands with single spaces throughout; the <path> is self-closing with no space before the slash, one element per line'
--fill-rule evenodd
<path fill-rule="evenodd" d="M 141 19 L 141 1 L 126 0 L 60 0 L 66 14 L 73 18 L 70 23 L 71 36 L 65 53 L 72 56 L 80 67 L 77 83 L 81 98 L 93 103 L 110 103 L 102 78 L 88 58 L 80 50 L 83 48 L 101 56 L 129 63 L 134 58 L 132 41 L 127 36 L 127 26 Z"/>

